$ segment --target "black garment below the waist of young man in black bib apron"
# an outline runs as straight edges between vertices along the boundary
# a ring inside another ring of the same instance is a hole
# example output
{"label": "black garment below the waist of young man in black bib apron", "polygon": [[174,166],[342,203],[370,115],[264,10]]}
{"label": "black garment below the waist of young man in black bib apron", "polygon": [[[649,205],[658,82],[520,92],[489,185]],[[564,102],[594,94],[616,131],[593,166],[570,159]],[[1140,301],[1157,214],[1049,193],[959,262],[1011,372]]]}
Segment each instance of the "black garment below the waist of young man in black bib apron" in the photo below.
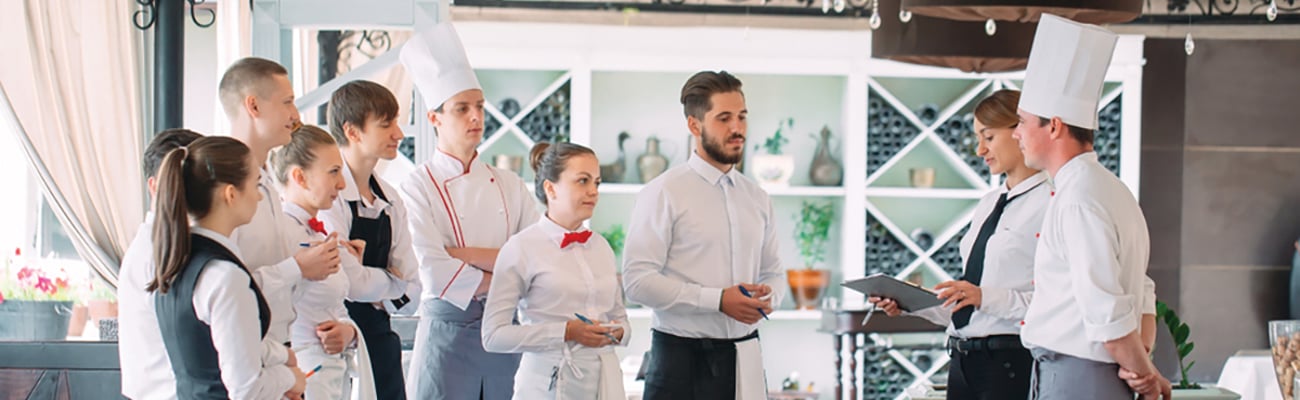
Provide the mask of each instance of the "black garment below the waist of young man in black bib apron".
{"label": "black garment below the waist of young man in black bib apron", "polygon": [[402,338],[393,331],[389,312],[376,309],[369,303],[344,301],[347,314],[361,329],[365,349],[370,352],[370,371],[374,374],[374,397],[380,400],[406,400],[406,382],[402,378]]}

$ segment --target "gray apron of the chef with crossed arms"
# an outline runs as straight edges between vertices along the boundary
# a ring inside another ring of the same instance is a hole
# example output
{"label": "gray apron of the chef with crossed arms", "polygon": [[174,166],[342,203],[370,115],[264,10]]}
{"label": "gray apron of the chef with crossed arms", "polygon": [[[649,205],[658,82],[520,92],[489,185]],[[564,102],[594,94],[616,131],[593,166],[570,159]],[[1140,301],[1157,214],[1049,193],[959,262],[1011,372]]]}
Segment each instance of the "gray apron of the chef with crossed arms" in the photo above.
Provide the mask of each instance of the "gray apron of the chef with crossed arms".
{"label": "gray apron of the chef with crossed arms", "polygon": [[426,299],[420,313],[407,379],[411,399],[511,399],[520,355],[484,351],[482,300],[460,310],[451,303]]}

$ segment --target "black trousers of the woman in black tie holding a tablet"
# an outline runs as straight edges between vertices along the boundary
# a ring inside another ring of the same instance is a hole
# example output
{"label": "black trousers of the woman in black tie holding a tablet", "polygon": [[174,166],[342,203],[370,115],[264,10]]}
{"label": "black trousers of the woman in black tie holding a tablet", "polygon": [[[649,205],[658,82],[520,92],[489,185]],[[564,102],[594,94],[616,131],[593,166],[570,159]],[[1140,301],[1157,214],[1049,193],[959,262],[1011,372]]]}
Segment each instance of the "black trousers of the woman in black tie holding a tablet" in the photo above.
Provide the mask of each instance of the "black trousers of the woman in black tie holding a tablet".
{"label": "black trousers of the woman in black tie holding a tablet", "polygon": [[1034,357],[1028,349],[959,352],[949,349],[949,400],[1008,400],[1030,397]]}

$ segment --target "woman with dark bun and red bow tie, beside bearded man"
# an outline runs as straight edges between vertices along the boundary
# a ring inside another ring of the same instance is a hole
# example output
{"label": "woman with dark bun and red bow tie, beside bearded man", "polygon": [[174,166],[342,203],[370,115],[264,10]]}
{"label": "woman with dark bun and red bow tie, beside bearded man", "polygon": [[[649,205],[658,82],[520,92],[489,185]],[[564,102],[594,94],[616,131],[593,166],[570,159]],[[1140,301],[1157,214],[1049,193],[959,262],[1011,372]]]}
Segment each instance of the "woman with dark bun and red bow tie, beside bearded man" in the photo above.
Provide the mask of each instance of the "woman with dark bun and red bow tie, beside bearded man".
{"label": "woman with dark bun and red bow tie, beside bearded man", "polygon": [[541,143],[532,165],[546,216],[500,248],[484,348],[524,353],[515,399],[625,399],[611,348],[628,331],[614,249],[582,227],[599,199],[601,162],[578,144]]}

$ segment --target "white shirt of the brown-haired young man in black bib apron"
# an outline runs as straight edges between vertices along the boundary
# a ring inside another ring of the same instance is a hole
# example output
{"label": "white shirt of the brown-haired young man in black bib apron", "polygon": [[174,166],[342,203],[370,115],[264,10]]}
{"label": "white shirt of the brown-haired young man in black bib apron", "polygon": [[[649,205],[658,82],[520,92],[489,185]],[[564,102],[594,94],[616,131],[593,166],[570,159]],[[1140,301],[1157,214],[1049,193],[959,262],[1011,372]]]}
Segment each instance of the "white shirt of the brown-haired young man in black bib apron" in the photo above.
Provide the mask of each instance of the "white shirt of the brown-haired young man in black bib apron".
{"label": "white shirt of the brown-haired young man in black bib apron", "polygon": [[[320,210],[317,218],[325,223],[326,231],[338,232],[339,239],[347,240],[350,238],[348,234],[352,231],[352,208],[348,206],[348,201],[360,201],[356,205],[356,212],[365,218],[377,218],[384,213],[389,214],[389,223],[393,230],[393,242],[389,243],[389,270],[396,270],[402,274],[402,278],[396,279],[376,268],[364,268],[360,271],[355,269],[344,270],[352,281],[347,299],[352,301],[382,301],[408,295],[411,304],[404,305],[400,310],[393,306],[393,301],[384,301],[384,308],[390,313],[413,310],[420,304],[419,264],[415,262],[415,253],[411,252],[411,231],[407,229],[407,210],[402,204],[398,190],[384,182],[382,178],[374,177],[387,200],[380,199],[376,194],[374,201],[369,201],[361,199],[356,178],[352,177],[352,170],[348,168],[346,157],[343,158],[343,170],[341,173],[347,186],[338,192],[334,205]],[[369,182],[365,184],[369,184]],[[351,257],[351,255],[347,255],[347,257]]]}

